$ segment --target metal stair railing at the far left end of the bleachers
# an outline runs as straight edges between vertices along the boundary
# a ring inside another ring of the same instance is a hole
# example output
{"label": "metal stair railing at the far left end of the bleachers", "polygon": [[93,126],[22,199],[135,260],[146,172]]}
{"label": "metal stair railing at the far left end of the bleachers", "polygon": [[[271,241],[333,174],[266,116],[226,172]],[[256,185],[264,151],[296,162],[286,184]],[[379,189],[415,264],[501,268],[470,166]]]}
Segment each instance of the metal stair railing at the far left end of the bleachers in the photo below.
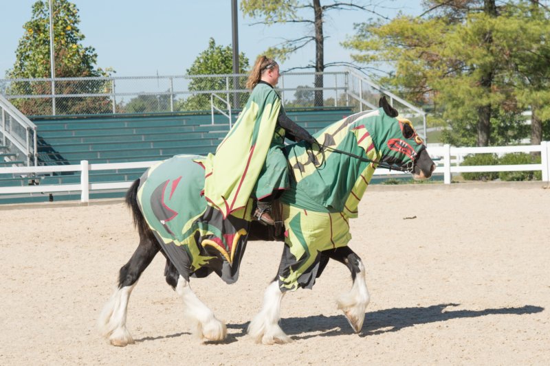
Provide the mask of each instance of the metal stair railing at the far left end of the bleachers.
{"label": "metal stair railing at the far left end of the bleachers", "polygon": [[27,166],[36,165],[38,151],[36,125],[2,95],[0,95],[0,111],[1,144],[8,146],[9,152],[25,157]]}

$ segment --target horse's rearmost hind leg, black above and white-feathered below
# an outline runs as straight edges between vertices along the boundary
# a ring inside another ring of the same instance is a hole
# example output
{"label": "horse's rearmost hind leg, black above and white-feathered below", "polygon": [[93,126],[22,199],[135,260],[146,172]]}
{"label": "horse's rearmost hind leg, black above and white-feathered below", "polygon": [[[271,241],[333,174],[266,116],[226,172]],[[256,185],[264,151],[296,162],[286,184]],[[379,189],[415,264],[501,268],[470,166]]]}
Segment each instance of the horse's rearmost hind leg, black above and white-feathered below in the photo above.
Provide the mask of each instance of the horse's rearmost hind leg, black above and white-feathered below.
{"label": "horse's rearmost hind leg, black above and white-feathered below", "polygon": [[133,343],[132,336],[126,329],[128,301],[137,280],[158,251],[159,245],[152,233],[141,236],[140,244],[132,258],[120,268],[118,286],[98,319],[100,334],[109,337],[112,345],[124,346]]}

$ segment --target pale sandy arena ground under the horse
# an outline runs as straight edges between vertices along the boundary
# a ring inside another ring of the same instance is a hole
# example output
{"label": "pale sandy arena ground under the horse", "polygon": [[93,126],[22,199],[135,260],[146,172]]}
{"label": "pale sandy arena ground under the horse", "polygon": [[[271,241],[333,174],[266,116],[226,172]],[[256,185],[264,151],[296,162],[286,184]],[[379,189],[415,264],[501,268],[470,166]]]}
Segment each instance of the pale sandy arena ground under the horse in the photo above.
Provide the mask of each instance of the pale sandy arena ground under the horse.
{"label": "pale sandy arena ground under the horse", "polygon": [[550,189],[542,183],[372,186],[351,221],[371,304],[360,334],[336,309],[347,268],[283,299],[289,345],[245,333],[283,244],[250,242],[239,282],[195,279],[228,323],[202,344],[157,255],[130,299],[134,345],[96,319],[137,246],[121,201],[0,206],[0,365],[549,365]]}

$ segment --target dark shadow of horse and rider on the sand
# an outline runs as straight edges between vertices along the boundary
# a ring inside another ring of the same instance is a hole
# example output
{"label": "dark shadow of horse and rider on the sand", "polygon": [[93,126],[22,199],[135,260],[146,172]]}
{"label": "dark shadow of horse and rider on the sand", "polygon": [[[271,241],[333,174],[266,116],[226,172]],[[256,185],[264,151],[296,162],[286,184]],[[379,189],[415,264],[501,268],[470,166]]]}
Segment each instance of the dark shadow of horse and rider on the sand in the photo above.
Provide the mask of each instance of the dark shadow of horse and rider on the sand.
{"label": "dark shadow of horse and rider on the sand", "polygon": [[[439,321],[448,321],[452,319],[485,317],[487,315],[525,315],[536,314],[544,311],[541,306],[525,305],[520,308],[494,308],[485,310],[451,310],[450,308],[460,306],[460,304],[439,304],[426,307],[415,308],[391,308],[367,312],[365,321],[359,336],[373,336],[388,332],[398,332],[401,329],[420,324],[437,323]],[[228,332],[225,341],[221,343],[233,343],[245,336],[246,329],[250,322],[241,324],[227,324],[228,330],[237,330],[237,332]],[[338,336],[342,334],[353,334],[353,330],[347,323],[344,315],[312,315],[310,317],[293,317],[281,319],[281,327],[292,336],[292,339],[309,339],[317,336]],[[166,339],[179,337],[188,332],[177,334],[168,334],[166,336],[148,336],[143,339],[136,339],[136,343],[144,341],[155,341],[157,339]],[[211,342],[206,342],[211,343]]]}

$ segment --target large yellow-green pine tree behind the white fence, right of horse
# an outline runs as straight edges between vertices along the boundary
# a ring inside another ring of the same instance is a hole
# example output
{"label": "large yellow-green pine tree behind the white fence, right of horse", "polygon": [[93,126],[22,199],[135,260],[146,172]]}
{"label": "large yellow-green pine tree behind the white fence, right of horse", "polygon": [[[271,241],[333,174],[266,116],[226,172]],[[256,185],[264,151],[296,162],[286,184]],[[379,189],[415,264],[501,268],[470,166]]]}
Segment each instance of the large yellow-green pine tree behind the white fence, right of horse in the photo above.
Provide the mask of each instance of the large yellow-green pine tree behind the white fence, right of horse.
{"label": "large yellow-green pine tree behind the white fence, right of horse", "polygon": [[[423,16],[359,25],[344,45],[359,52],[352,55],[358,62],[395,66],[395,72],[379,78],[382,84],[417,102],[431,98],[439,122],[452,128],[443,134],[446,141],[477,146],[516,142],[525,128],[522,105],[533,95],[525,93],[526,83],[518,82],[518,70],[523,65],[524,73],[547,73],[540,60],[536,66],[535,58],[521,59],[516,51],[521,46],[525,55],[549,47],[544,37],[529,36],[541,21],[522,14],[525,3],[430,0]],[[541,36],[548,32],[543,29]],[[520,95],[525,95],[522,100]]]}

